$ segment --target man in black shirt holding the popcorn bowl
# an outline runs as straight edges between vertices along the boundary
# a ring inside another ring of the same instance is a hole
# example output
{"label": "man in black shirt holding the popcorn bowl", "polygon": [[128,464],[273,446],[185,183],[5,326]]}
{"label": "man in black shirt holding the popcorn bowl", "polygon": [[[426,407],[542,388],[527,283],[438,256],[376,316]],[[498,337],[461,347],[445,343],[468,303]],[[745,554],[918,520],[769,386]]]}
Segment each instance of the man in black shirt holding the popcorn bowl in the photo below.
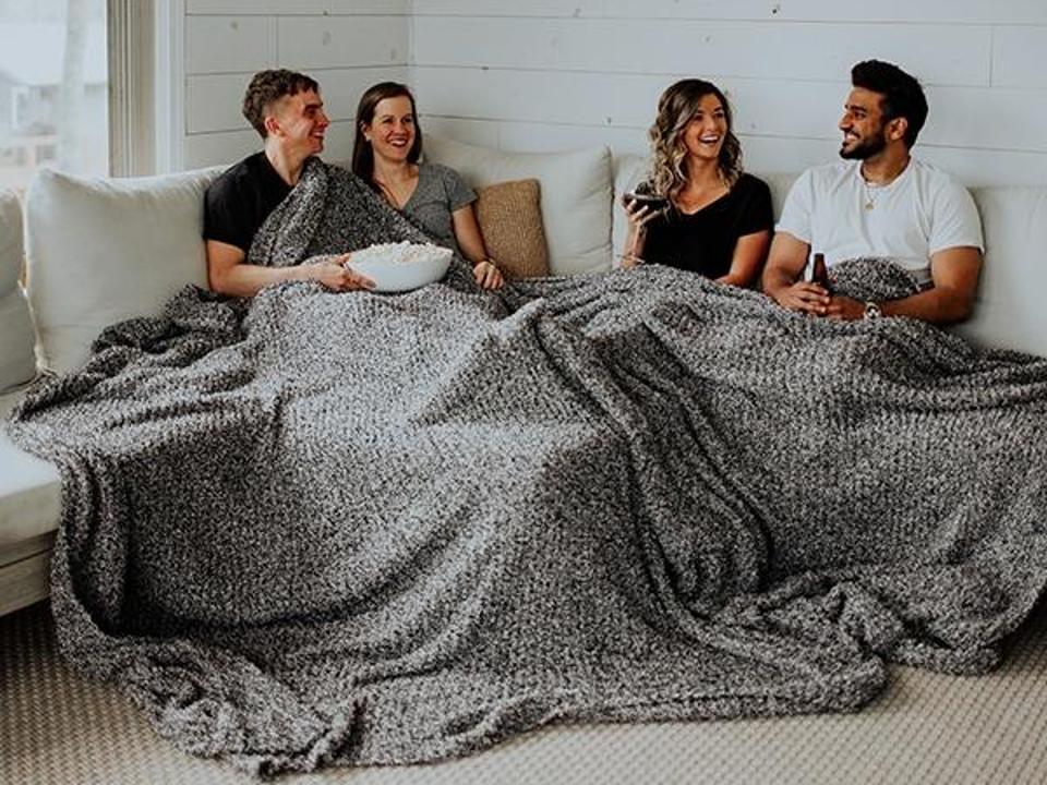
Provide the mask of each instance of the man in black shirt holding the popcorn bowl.
{"label": "man in black shirt holding the popcorn bowl", "polygon": [[262,136],[264,148],[222,172],[204,195],[210,288],[252,297],[286,280],[318,280],[335,291],[373,287],[369,278],[345,267],[349,254],[316,265],[246,264],[255,232],[298,184],[305,160],[324,149],[330,121],[316,82],[284,69],[254,75],[243,98],[243,114]]}

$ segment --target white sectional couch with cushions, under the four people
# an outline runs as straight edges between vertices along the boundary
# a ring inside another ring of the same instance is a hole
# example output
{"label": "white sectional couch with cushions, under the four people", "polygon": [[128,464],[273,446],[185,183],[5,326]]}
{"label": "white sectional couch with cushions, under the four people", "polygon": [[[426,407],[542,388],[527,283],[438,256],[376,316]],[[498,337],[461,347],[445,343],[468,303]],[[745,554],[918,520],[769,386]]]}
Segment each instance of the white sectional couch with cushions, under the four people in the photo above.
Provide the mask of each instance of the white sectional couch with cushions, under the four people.
{"label": "white sectional couch with cushions, under the four people", "polygon": [[[606,148],[515,154],[431,138],[426,154],[474,186],[537,178],[555,275],[611,267],[625,231],[618,197],[643,170],[640,158],[615,158]],[[0,195],[0,414],[37,373],[83,362],[104,326],[156,312],[184,283],[205,283],[202,196],[218,171],[123,181],[41,172],[24,220],[32,321],[17,279],[21,210],[13,195]],[[765,176],[775,208],[793,177]],[[1047,185],[973,193],[986,265],[976,314],[956,329],[987,346],[1047,355],[1047,310],[1039,304],[1047,291]],[[0,614],[47,595],[60,496],[55,468],[0,431]]]}

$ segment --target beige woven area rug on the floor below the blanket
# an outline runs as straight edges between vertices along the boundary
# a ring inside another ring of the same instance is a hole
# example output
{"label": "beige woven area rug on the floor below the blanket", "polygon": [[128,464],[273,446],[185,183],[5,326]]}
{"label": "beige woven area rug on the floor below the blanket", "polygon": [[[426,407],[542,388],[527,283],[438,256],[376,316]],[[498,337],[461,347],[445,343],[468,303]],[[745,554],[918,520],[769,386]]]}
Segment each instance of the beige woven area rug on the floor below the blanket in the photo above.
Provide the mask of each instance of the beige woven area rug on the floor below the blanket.
{"label": "beige woven area rug on the floor below the blanket", "polygon": [[[857,714],[557,726],[438,765],[332,770],[285,782],[1047,782],[1047,608],[988,676],[892,673],[888,690]],[[0,783],[248,782],[179,752],[115,688],[59,661],[46,603],[0,618]]]}

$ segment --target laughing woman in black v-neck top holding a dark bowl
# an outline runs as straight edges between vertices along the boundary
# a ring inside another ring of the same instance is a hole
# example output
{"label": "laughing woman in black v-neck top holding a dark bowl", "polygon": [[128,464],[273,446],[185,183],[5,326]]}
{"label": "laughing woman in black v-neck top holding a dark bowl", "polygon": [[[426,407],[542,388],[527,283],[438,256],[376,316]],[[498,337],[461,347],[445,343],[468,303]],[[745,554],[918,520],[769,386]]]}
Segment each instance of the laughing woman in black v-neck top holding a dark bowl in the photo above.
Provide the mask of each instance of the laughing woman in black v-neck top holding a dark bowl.
{"label": "laughing woman in black v-neck top holding a dark bowl", "polygon": [[742,171],[726,97],[710,82],[677,82],[659,99],[649,135],[653,164],[637,193],[666,202],[626,195],[622,266],[658,263],[751,286],[771,242],[771,192]]}

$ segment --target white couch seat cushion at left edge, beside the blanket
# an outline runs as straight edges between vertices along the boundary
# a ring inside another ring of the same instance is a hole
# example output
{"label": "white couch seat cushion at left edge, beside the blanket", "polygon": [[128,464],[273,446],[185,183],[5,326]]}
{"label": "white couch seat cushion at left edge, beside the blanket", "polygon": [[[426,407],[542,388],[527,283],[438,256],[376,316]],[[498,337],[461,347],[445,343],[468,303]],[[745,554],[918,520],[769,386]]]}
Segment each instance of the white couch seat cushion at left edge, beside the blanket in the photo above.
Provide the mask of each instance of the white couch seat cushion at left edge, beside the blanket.
{"label": "white couch seat cushion at left edge, beside the blanket", "polygon": [[8,437],[3,423],[21,397],[0,396],[0,547],[55,530],[62,509],[58,468]]}

